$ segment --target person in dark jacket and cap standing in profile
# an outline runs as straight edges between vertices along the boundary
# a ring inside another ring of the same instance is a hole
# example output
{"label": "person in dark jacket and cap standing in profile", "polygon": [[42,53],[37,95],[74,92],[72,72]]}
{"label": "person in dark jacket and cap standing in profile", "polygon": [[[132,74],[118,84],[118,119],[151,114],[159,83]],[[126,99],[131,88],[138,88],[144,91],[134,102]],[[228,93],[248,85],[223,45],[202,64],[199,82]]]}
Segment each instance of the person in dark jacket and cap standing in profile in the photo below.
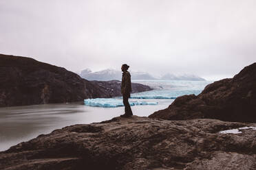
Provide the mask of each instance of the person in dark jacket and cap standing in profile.
{"label": "person in dark jacket and cap standing in profile", "polygon": [[120,117],[131,117],[133,114],[131,112],[131,106],[129,104],[129,97],[131,97],[131,75],[129,71],[129,66],[127,64],[122,64],[122,84],[121,84],[121,93],[122,93],[122,102],[125,105],[125,114],[120,115]]}

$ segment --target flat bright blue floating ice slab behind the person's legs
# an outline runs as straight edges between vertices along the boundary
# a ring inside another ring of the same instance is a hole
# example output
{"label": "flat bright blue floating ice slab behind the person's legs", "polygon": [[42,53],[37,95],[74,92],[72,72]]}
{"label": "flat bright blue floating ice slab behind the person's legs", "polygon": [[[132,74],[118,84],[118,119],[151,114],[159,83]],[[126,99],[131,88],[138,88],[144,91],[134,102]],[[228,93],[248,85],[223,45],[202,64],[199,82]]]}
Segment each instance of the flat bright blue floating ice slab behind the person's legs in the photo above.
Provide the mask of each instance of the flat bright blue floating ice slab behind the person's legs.
{"label": "flat bright blue floating ice slab behind the person's legs", "polygon": [[[102,108],[116,108],[124,106],[122,99],[116,98],[96,98],[96,99],[84,99],[85,106],[102,107]],[[129,101],[131,106],[136,105],[157,105],[156,101]]]}

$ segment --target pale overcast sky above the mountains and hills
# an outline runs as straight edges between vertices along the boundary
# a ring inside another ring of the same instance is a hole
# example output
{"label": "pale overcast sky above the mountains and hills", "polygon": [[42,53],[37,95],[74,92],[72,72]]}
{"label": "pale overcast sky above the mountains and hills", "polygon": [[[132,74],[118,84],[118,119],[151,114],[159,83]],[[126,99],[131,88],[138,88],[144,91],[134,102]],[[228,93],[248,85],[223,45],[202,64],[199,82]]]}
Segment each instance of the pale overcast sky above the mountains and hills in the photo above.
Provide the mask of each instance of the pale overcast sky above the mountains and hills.
{"label": "pale overcast sky above the mountains and hills", "polygon": [[0,0],[0,53],[70,71],[233,77],[256,62],[255,0]]}

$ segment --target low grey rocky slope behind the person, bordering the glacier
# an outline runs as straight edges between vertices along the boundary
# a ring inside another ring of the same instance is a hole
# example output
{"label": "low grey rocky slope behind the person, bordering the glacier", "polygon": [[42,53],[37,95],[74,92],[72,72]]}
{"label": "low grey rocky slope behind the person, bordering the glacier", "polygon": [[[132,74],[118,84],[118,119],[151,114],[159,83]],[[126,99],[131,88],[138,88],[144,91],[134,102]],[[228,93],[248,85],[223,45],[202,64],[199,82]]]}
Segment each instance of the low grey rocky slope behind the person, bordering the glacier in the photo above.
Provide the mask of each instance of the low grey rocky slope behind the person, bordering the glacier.
{"label": "low grey rocky slope behind the person, bordering the glacier", "polygon": [[[103,88],[105,93],[109,94],[109,97],[118,97],[122,96],[121,94],[121,82],[118,80],[110,80],[110,81],[90,81],[92,84],[96,84]],[[138,83],[131,83],[131,93],[140,93],[143,91],[153,90],[149,86],[138,84]]]}

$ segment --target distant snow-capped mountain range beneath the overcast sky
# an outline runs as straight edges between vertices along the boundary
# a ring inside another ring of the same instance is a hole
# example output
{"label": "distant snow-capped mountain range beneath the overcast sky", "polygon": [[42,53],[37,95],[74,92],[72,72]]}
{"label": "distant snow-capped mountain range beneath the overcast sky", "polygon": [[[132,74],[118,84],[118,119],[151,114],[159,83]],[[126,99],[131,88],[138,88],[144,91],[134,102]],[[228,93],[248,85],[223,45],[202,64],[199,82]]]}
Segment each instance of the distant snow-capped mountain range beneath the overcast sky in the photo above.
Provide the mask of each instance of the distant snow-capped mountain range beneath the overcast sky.
{"label": "distant snow-capped mountain range beneath the overcast sky", "polygon": [[[105,69],[102,71],[92,72],[90,69],[85,69],[78,73],[81,77],[87,80],[121,80],[122,71],[117,71],[115,69]],[[161,77],[154,77],[153,75],[145,72],[134,72],[131,71],[132,80],[191,80],[191,81],[204,81],[202,77],[192,74],[175,75],[172,73],[167,73]]]}

